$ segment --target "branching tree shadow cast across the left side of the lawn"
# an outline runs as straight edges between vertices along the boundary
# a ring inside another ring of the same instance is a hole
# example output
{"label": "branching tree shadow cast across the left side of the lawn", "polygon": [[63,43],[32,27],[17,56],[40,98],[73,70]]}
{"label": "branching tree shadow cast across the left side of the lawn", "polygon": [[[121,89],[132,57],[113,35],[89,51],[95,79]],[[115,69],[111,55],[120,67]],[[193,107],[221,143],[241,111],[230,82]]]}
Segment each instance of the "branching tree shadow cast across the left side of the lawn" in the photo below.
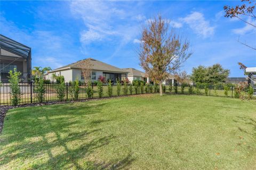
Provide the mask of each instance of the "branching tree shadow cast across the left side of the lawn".
{"label": "branching tree shadow cast across the left side of the lawn", "polygon": [[[36,156],[39,158],[43,154],[46,154],[49,158],[45,163],[35,162],[33,163],[33,167],[26,168],[42,168],[42,169],[60,169],[60,168],[68,168],[67,166],[76,167],[76,169],[82,169],[81,163],[78,163],[78,160],[83,159],[86,156],[89,156],[94,152],[95,149],[108,145],[112,140],[115,139],[113,134],[99,136],[97,133],[101,131],[101,129],[92,129],[92,130],[83,130],[80,132],[69,131],[70,126],[78,125],[81,123],[78,120],[70,121],[69,118],[73,118],[74,115],[87,115],[96,114],[100,112],[104,104],[97,106],[84,106],[80,107],[79,111],[82,109],[84,112],[77,113],[76,108],[72,108],[72,106],[63,106],[59,105],[54,108],[50,108],[53,112],[43,113],[40,109],[49,109],[47,107],[39,107],[36,118],[33,118],[31,122],[31,114],[24,114],[23,116],[19,116],[18,121],[14,121],[21,125],[21,130],[9,130],[4,138],[4,142],[0,145],[4,150],[2,151],[1,163],[0,166],[10,166],[8,165],[13,160],[20,160],[21,162],[26,162],[29,160],[33,160]],[[95,109],[96,108],[96,109]],[[26,112],[26,109],[23,112]],[[63,111],[62,113],[60,111]],[[74,111],[67,113],[66,111]],[[14,113],[19,114],[19,112]],[[42,116],[38,116],[42,114]],[[66,115],[64,117],[61,117]],[[54,118],[52,118],[54,116]],[[58,118],[58,116],[60,116]],[[42,118],[44,117],[44,118]],[[17,119],[17,118],[16,118]],[[96,120],[92,122],[88,122],[89,125],[99,125],[100,123],[107,122],[111,120]],[[66,137],[62,137],[62,133],[65,132],[67,134]],[[49,134],[52,135],[52,139],[49,138]],[[29,140],[31,138],[36,138],[36,140]],[[78,141],[77,141],[78,140]],[[81,142],[79,142],[81,141]],[[77,147],[71,147],[70,143],[75,142]],[[69,145],[68,145],[69,143]],[[53,154],[53,149],[58,150],[58,148],[62,148],[60,153]],[[43,157],[43,156],[42,156]],[[36,158],[35,158],[36,160]],[[42,161],[42,160],[41,160]],[[111,163],[115,161],[111,161],[109,164],[98,165],[98,163],[90,163],[95,168],[100,167],[108,167],[108,168],[122,168],[133,161],[131,156],[127,156],[127,158],[123,160],[119,160],[117,163],[113,165]],[[22,164],[22,163],[17,163]],[[15,166],[15,165],[14,165]],[[26,165],[25,165],[26,166]]]}

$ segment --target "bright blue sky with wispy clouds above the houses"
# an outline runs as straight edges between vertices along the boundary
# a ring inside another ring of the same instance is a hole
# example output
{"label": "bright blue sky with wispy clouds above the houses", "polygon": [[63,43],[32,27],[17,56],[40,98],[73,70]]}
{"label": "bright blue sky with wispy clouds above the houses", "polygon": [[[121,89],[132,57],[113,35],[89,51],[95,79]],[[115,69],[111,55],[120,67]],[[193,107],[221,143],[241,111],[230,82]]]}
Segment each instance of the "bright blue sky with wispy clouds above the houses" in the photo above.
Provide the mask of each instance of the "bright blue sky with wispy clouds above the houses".
{"label": "bright blue sky with wispy clouds above the houses", "polygon": [[[157,14],[187,37],[193,55],[181,70],[220,63],[231,77],[237,62],[256,66],[255,29],[225,18],[224,5],[238,1],[1,1],[0,32],[32,48],[33,66],[57,67],[92,57],[141,70],[137,49],[142,25]],[[255,22],[255,21],[252,21]]]}

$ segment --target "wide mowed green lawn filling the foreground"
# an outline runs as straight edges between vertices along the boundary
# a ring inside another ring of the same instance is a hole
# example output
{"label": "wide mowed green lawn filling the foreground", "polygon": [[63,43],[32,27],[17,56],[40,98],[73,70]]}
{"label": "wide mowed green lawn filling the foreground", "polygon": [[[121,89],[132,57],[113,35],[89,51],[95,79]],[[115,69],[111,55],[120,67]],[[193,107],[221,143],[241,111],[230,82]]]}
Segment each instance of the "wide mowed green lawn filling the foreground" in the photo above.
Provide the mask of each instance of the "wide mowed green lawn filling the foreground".
{"label": "wide mowed green lawn filling the foreground", "polygon": [[12,109],[0,169],[256,169],[256,102],[153,94]]}

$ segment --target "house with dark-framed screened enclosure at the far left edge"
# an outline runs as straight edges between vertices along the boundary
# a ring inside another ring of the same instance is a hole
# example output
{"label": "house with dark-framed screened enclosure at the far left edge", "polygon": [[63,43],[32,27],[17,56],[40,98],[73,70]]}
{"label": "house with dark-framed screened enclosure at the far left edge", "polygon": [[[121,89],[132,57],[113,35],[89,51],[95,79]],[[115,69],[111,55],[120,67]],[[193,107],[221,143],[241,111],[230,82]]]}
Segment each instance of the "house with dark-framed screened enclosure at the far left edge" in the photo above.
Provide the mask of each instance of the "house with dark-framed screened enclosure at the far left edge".
{"label": "house with dark-framed screened enclosure at the far left edge", "polygon": [[31,78],[31,48],[0,34],[0,81],[8,82],[9,71],[21,72],[21,80]]}

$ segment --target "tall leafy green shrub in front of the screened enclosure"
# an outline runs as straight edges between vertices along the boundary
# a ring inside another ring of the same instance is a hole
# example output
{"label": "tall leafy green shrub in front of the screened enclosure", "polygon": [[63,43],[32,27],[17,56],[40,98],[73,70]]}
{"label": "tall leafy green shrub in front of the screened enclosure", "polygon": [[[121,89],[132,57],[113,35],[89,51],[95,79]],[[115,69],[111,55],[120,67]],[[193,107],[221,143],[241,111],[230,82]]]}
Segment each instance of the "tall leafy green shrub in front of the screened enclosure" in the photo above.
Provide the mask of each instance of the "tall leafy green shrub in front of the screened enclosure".
{"label": "tall leafy green shrub in front of the screened enclosure", "polygon": [[17,72],[16,69],[14,69],[14,71],[10,70],[9,75],[10,76],[8,78],[11,88],[11,103],[13,106],[17,106],[21,98],[21,91],[19,87],[21,73]]}

